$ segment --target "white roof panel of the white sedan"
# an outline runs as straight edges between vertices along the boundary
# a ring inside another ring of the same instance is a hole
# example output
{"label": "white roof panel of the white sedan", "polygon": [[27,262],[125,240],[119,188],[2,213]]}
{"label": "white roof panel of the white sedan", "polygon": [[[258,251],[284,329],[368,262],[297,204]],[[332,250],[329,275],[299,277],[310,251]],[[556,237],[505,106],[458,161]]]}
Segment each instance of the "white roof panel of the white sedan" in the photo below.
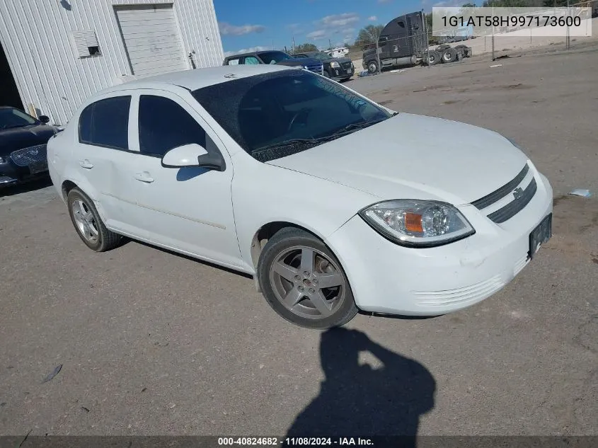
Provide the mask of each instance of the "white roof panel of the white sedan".
{"label": "white roof panel of the white sedan", "polygon": [[111,93],[136,88],[159,88],[164,85],[180,86],[190,91],[195,91],[198,88],[213,86],[214,84],[221,84],[234,79],[282,70],[296,70],[296,68],[275,64],[239,64],[209,67],[206,69],[173,71],[172,73],[133,79],[132,81],[106,88],[98,93]]}

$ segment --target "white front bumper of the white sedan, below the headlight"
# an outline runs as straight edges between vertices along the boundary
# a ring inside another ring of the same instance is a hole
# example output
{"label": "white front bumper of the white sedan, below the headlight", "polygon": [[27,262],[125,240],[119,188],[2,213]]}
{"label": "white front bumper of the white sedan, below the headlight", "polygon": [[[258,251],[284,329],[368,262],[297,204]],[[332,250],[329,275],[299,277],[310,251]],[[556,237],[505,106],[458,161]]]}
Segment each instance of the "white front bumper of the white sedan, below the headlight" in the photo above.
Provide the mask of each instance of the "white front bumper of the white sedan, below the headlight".
{"label": "white front bumper of the white sedan, below the headlight", "polygon": [[552,212],[552,188],[538,190],[511,219],[495,224],[473,207],[458,207],[476,234],[435,248],[406,248],[384,239],[356,215],[327,243],[345,268],[363,311],[438,316],[476,304],[505,287],[529,263],[529,234]]}

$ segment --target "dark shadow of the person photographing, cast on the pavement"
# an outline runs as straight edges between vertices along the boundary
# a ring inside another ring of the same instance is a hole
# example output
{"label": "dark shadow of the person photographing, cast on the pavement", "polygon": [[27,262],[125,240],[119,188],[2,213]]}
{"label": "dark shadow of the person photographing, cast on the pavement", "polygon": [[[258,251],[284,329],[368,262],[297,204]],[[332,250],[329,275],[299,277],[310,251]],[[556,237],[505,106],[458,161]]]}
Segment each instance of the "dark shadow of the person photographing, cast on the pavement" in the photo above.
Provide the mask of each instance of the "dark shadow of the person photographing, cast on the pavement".
{"label": "dark shadow of the person photographing, cast on the pavement", "polygon": [[[369,352],[379,362],[373,367],[360,364],[360,352]],[[345,328],[322,333],[320,357],[326,375],[320,394],[285,437],[376,436],[390,441],[384,436],[401,435],[410,436],[401,438],[401,447],[415,447],[420,415],[434,408],[436,389],[434,377],[422,364]]]}

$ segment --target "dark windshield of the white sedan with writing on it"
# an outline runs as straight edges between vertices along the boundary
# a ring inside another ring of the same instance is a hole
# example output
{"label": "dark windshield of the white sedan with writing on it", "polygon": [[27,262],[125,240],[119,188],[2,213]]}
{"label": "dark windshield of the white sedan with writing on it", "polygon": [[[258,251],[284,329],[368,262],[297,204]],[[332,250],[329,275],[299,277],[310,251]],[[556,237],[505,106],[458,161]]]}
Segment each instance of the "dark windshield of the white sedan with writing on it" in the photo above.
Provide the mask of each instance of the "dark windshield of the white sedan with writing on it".
{"label": "dark windshield of the white sedan with writing on it", "polygon": [[193,92],[222,128],[259,161],[305,151],[391,117],[323,76],[284,70]]}

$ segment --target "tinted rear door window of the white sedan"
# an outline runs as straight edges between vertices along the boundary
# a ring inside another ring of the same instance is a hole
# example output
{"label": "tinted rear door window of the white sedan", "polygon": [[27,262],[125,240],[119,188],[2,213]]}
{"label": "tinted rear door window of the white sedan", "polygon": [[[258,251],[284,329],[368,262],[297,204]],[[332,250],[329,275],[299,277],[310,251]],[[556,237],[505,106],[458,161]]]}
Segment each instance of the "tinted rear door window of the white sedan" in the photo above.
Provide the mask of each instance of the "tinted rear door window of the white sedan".
{"label": "tinted rear door window of the white sedan", "polygon": [[115,96],[88,105],[79,117],[79,142],[129,149],[130,96]]}

